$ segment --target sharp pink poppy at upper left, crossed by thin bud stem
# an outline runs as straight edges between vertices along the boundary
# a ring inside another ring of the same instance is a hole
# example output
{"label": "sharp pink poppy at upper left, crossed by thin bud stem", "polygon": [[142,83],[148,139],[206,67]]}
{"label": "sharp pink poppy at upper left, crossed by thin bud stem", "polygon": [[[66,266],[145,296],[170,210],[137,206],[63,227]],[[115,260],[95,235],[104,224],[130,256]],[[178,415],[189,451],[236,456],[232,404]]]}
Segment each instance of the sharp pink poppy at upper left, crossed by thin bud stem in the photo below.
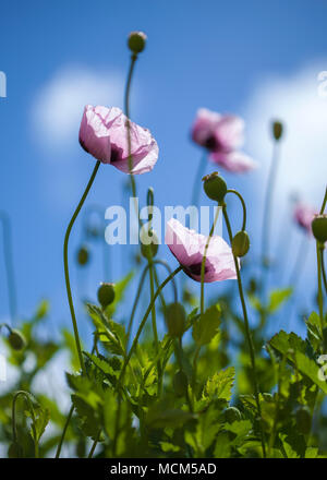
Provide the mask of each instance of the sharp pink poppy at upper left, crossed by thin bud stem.
{"label": "sharp pink poppy at upper left, crossed by thin bud stem", "polygon": [[[84,109],[80,143],[82,147],[100,160],[111,164],[125,173],[129,168],[128,118],[117,107],[93,107]],[[132,173],[145,173],[154,168],[158,159],[158,145],[147,129],[130,122]]]}

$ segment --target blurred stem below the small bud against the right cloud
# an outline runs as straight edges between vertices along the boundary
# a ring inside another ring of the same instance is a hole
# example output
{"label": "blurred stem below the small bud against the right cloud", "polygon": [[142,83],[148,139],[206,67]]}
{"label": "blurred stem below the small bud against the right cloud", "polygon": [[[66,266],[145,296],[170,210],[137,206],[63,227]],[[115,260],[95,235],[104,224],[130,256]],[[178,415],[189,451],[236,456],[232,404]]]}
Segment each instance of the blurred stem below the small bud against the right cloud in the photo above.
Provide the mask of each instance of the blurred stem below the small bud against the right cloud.
{"label": "blurred stem below the small bud against the right cloud", "polygon": [[269,264],[270,254],[270,221],[271,221],[271,204],[274,196],[274,188],[276,183],[277,170],[279,164],[279,145],[278,142],[274,143],[272,158],[270,164],[270,170],[268,176],[268,185],[266,190],[265,206],[264,206],[264,220],[263,220],[263,236],[262,236],[262,292],[263,298],[266,295],[266,266]]}

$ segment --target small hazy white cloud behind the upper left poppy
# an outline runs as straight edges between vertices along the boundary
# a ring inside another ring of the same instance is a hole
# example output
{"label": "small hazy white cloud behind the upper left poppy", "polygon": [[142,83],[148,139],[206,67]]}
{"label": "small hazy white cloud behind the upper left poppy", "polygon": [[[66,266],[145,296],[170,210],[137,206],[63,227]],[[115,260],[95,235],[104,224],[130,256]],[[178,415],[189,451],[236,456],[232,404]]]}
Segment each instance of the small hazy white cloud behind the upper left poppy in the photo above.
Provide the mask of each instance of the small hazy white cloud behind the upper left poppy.
{"label": "small hazy white cloud behind the upper left poppy", "polygon": [[76,144],[84,106],[120,106],[124,80],[117,72],[68,65],[46,83],[32,106],[33,132],[46,149]]}

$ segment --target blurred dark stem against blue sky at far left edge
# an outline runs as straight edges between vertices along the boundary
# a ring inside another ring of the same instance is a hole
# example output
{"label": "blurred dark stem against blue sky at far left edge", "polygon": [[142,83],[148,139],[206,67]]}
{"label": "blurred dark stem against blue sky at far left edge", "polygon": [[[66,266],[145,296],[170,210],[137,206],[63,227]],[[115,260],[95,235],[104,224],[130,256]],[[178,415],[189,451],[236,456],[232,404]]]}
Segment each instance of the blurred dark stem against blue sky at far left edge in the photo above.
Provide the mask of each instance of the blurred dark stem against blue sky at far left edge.
{"label": "blurred dark stem against blue sky at far left edge", "polygon": [[9,215],[3,211],[0,211],[0,220],[2,221],[2,229],[3,229],[3,257],[5,263],[5,273],[7,273],[7,283],[8,283],[10,317],[13,324],[16,316],[16,285],[14,279],[14,269],[13,269],[13,260],[12,260],[11,221]]}

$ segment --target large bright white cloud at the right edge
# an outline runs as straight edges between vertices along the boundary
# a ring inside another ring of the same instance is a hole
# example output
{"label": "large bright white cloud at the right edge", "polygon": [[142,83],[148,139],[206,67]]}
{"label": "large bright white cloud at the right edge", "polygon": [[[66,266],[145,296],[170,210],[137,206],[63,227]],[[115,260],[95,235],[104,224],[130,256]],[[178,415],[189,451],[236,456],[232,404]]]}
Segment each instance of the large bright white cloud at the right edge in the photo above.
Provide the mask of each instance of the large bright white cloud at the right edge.
{"label": "large bright white cloud at the right edge", "polygon": [[317,61],[292,75],[266,77],[245,107],[249,147],[262,161],[265,173],[271,157],[271,119],[284,123],[276,199],[295,191],[317,205],[323,200],[327,172],[327,98],[318,95],[322,85],[318,74],[326,68],[327,60]]}

